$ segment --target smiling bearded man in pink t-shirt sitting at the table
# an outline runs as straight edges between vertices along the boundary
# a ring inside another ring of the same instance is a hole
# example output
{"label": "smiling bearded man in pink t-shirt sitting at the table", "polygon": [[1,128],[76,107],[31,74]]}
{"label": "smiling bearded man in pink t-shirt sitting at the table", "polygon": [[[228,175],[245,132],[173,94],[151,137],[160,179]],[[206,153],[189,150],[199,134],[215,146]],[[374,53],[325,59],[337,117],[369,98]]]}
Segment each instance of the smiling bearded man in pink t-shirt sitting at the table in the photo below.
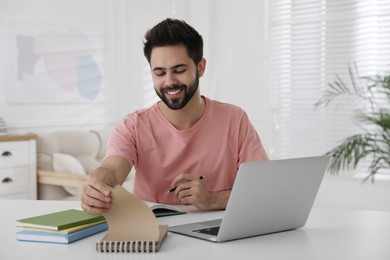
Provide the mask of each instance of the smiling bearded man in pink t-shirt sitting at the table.
{"label": "smiling bearded man in pink t-shirt sitting at the table", "polygon": [[191,26],[160,22],[146,33],[144,54],[161,102],[117,125],[84,187],[82,208],[106,212],[111,189],[134,166],[134,194],[142,200],[224,209],[239,165],[268,159],[256,130],[239,107],[200,95],[206,60]]}

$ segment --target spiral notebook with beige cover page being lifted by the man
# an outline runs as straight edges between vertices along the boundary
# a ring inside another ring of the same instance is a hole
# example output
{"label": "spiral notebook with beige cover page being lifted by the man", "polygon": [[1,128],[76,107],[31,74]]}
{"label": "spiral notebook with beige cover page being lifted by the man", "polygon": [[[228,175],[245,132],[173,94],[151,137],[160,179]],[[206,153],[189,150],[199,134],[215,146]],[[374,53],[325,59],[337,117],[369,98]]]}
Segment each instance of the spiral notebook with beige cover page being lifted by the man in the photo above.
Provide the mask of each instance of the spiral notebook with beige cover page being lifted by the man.
{"label": "spiral notebook with beige cover page being lifted by the man", "polygon": [[108,233],[96,243],[98,252],[157,252],[167,236],[168,226],[158,225],[153,211],[122,186],[112,190],[104,217]]}

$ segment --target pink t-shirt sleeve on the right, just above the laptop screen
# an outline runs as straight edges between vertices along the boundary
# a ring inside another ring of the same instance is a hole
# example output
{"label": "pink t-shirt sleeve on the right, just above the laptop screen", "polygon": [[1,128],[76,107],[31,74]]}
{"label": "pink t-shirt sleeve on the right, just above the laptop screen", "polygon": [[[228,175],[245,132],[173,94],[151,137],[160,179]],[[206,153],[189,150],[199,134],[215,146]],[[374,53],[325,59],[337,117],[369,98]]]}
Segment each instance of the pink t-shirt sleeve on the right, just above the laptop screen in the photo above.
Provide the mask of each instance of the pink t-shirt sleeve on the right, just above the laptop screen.
{"label": "pink t-shirt sleeve on the right, just above the laptop screen", "polygon": [[238,165],[263,160],[269,160],[269,157],[248,115],[243,112],[240,121]]}

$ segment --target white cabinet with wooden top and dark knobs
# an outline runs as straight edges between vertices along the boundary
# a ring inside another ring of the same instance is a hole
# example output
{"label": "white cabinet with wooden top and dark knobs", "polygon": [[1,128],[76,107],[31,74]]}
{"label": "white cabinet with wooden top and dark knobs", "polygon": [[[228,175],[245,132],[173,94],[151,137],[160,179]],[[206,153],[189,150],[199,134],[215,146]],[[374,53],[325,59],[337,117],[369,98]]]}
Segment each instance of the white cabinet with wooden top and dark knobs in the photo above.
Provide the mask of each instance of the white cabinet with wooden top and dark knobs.
{"label": "white cabinet with wooden top and dark knobs", "polygon": [[37,199],[34,135],[0,136],[0,199]]}

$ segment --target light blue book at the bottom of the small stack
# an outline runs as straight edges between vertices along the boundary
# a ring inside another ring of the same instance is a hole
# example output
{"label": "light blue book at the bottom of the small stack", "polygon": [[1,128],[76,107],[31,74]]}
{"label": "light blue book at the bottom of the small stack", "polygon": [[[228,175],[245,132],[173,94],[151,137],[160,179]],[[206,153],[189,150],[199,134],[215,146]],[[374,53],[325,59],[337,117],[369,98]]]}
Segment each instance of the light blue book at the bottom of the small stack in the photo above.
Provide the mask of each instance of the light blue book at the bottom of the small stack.
{"label": "light blue book at the bottom of the small stack", "polygon": [[16,239],[21,241],[70,244],[74,241],[94,235],[107,229],[108,224],[107,222],[104,222],[69,234],[23,230],[16,233]]}

